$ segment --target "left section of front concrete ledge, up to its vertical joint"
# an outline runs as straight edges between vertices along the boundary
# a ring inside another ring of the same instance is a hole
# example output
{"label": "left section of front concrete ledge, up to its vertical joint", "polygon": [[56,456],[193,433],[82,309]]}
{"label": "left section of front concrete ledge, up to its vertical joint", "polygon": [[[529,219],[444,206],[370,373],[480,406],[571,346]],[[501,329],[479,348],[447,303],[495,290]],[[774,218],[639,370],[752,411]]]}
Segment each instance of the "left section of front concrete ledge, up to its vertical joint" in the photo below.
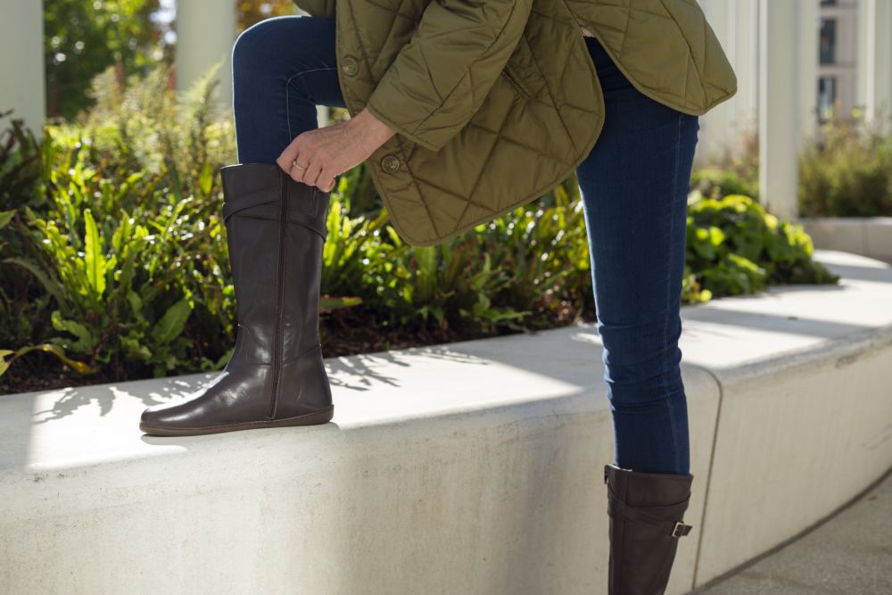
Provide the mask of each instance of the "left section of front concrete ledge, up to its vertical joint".
{"label": "left section of front concrete ledge, up to its vertical joint", "polygon": [[[0,398],[0,592],[599,592],[613,443],[591,327],[327,363],[334,423],[308,428],[138,431],[203,376]],[[708,443],[718,389],[685,373]]]}

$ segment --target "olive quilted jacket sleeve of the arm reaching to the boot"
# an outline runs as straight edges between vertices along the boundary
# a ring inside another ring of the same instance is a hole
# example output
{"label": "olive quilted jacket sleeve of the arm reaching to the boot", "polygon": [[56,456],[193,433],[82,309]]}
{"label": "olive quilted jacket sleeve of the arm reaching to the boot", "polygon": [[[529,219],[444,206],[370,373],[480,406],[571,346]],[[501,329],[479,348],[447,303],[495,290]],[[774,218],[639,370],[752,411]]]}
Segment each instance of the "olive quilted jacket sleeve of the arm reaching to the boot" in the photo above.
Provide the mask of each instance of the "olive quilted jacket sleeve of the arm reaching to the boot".
{"label": "olive quilted jacket sleeve of the arm reaching to the boot", "polygon": [[432,0],[366,108],[438,150],[483,103],[523,35],[533,0]]}

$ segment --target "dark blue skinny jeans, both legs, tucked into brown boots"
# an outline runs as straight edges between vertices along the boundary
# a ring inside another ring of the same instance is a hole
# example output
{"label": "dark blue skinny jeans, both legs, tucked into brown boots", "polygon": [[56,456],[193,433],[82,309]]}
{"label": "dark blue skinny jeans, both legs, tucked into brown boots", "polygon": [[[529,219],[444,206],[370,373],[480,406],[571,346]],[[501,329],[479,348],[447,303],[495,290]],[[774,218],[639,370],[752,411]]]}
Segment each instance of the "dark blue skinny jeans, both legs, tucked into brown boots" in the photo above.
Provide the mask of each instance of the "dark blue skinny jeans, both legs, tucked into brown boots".
{"label": "dark blue skinny jeans, both legs, tucked into brown boots", "polygon": [[[606,120],[576,173],[613,419],[613,462],[688,474],[679,337],[698,117],[641,94],[595,37],[585,37],[585,44]],[[336,66],[333,19],[273,17],[245,29],[232,52],[238,161],[275,162],[295,136],[318,128],[317,105],[344,107]]]}

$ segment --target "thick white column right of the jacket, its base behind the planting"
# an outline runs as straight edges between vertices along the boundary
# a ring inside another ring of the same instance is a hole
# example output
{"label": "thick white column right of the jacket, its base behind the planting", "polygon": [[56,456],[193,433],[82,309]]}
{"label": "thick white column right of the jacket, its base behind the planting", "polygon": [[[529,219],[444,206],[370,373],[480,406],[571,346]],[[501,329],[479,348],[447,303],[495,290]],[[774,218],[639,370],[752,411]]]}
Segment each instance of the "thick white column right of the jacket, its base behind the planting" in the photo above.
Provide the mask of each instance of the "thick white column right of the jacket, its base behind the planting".
{"label": "thick white column right of the jacket, its base behind the planting", "polygon": [[765,208],[796,218],[797,3],[759,2],[759,191]]}

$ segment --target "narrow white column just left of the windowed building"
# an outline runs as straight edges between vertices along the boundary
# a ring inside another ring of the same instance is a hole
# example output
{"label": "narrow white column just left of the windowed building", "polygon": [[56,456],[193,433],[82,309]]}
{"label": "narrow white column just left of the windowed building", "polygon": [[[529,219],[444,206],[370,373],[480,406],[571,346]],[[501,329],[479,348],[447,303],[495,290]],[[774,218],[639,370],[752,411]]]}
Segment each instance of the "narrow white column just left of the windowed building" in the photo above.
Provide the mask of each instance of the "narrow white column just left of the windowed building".
{"label": "narrow white column just left of the windowed building", "polygon": [[818,123],[819,0],[797,0],[797,71],[799,73],[799,147],[813,136]]}

